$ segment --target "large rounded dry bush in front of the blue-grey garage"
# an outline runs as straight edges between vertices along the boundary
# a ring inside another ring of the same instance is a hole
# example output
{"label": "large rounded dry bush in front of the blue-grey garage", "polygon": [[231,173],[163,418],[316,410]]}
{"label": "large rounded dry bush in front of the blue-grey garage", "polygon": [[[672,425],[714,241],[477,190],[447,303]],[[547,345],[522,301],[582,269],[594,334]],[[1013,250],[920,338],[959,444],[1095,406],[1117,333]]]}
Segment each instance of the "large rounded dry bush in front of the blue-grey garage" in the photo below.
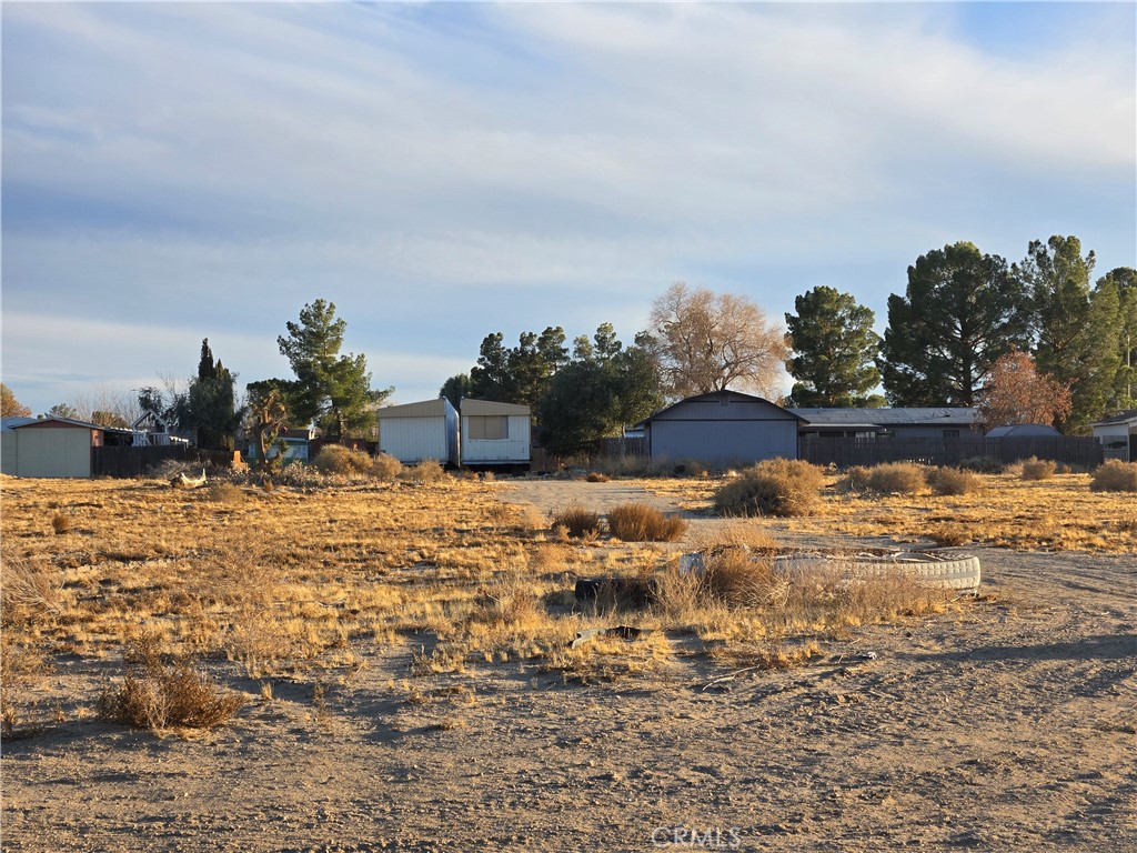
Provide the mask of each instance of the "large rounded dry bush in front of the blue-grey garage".
{"label": "large rounded dry bush in front of the blue-grey garage", "polygon": [[720,488],[714,508],[720,515],[808,515],[822,478],[820,467],[802,459],[765,459]]}

